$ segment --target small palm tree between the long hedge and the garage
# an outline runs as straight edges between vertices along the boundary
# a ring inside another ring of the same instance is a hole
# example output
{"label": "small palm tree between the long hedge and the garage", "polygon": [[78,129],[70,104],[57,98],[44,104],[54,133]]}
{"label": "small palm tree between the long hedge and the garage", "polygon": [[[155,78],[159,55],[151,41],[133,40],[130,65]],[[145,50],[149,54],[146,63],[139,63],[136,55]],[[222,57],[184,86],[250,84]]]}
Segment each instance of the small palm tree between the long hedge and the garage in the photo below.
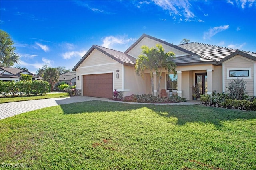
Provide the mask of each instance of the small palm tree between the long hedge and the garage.
{"label": "small palm tree between the long hedge and the garage", "polygon": [[51,92],[56,82],[58,82],[59,72],[56,68],[48,67],[44,70],[44,80],[51,85]]}

